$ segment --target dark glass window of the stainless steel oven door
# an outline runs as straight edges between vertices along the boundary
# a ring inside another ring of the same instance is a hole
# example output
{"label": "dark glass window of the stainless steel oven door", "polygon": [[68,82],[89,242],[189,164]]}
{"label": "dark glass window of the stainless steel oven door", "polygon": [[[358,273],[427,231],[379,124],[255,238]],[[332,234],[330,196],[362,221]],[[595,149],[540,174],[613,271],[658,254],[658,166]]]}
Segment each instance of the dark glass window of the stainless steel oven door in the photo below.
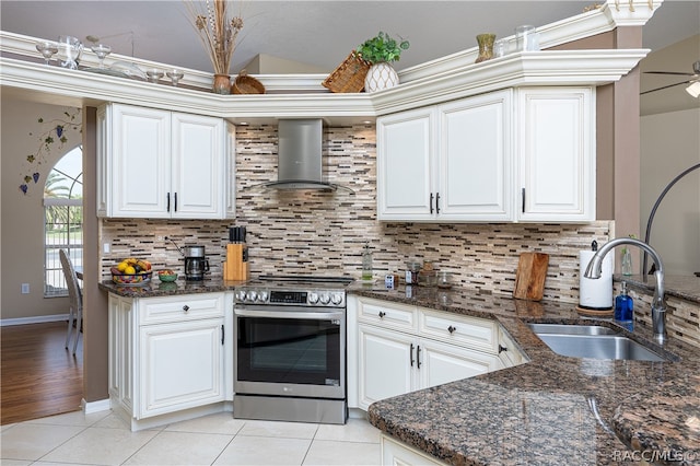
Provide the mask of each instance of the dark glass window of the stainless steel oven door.
{"label": "dark glass window of the stainless steel oven door", "polygon": [[304,318],[237,317],[237,378],[340,385],[340,325]]}

